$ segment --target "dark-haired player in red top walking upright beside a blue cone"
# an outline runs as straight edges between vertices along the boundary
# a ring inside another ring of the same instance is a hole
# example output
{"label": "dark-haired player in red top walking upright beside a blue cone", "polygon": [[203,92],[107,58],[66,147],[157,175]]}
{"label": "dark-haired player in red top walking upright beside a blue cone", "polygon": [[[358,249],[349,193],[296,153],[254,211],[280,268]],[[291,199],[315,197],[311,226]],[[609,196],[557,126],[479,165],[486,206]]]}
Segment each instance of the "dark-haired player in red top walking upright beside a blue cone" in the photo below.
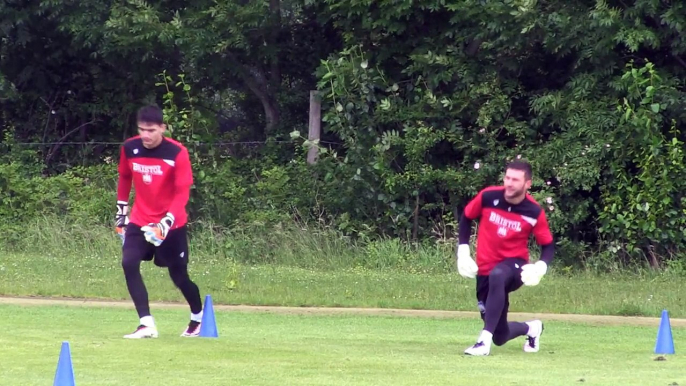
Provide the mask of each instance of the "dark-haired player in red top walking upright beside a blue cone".
{"label": "dark-haired player in red top walking upright beside a blue cone", "polygon": [[[122,268],[140,318],[136,331],[124,338],[158,336],[140,272],[141,262],[153,258],[155,265],[169,270],[190,306],[191,321],[181,336],[198,336],[202,300],[198,286],[188,276],[186,233],[186,203],[193,184],[190,157],[182,144],[164,136],[166,126],[158,107],[141,108],[137,121],[139,135],[121,147],[117,186],[116,230],[124,242]],[[132,185],[136,196],[127,216]]]}

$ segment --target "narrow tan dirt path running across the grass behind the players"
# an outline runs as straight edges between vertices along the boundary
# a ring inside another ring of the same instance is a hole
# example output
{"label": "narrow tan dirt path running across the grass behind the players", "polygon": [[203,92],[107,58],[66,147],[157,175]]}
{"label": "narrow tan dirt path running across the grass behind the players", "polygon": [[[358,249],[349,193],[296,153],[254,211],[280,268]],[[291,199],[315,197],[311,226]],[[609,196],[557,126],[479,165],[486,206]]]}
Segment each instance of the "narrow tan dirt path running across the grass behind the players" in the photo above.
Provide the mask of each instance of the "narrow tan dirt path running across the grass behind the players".
{"label": "narrow tan dirt path running across the grass behind the players", "polygon": [[[133,308],[130,301],[103,300],[103,299],[74,299],[74,298],[46,298],[46,297],[0,297],[0,304],[12,304],[21,306],[86,306],[86,307],[122,307]],[[151,308],[182,308],[187,309],[185,303],[153,302]],[[298,314],[298,315],[365,315],[365,316],[402,316],[423,318],[478,318],[477,312],[471,311],[440,311],[440,310],[409,310],[393,308],[348,308],[348,307],[283,307],[283,306],[250,306],[250,305],[223,305],[215,304],[216,311],[235,312],[263,312],[272,314]],[[657,327],[660,318],[638,316],[612,316],[612,315],[583,315],[583,314],[548,314],[548,313],[523,313],[511,312],[509,319],[512,321],[526,321],[542,319],[545,321],[562,321],[573,323],[590,323],[604,325],[629,325]],[[673,327],[686,327],[686,319],[670,318]]]}

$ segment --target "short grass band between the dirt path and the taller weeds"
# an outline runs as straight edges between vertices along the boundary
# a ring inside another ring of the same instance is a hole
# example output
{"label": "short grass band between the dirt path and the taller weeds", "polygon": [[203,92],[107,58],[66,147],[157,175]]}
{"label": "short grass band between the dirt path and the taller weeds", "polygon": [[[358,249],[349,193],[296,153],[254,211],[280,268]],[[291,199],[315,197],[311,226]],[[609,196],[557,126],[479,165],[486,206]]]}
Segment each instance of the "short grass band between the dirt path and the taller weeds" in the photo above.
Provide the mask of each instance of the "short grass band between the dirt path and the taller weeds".
{"label": "short grass band between the dirt path and the taller weeds", "polygon": [[[196,256],[190,271],[203,293],[220,304],[476,310],[474,281],[455,272],[317,270],[246,265],[213,256]],[[183,301],[166,271],[146,263],[143,275],[151,300]],[[129,298],[115,253],[5,254],[0,260],[0,294]],[[674,317],[686,317],[685,296],[684,280],[674,276],[551,272],[540,285],[514,293],[511,309],[655,317],[666,308]]]}

